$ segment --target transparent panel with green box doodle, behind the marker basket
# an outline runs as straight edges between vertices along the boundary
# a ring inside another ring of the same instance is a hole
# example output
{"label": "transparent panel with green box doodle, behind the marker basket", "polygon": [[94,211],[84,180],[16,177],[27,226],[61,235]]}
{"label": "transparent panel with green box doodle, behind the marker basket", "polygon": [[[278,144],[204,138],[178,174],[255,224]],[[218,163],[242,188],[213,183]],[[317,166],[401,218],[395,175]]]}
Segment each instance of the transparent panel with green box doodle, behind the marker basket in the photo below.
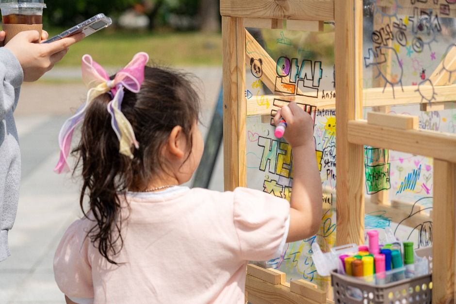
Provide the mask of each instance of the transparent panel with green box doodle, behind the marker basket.
{"label": "transparent panel with green box doodle, behind the marker basket", "polygon": [[432,245],[433,159],[364,147],[366,230],[390,228],[414,248]]}

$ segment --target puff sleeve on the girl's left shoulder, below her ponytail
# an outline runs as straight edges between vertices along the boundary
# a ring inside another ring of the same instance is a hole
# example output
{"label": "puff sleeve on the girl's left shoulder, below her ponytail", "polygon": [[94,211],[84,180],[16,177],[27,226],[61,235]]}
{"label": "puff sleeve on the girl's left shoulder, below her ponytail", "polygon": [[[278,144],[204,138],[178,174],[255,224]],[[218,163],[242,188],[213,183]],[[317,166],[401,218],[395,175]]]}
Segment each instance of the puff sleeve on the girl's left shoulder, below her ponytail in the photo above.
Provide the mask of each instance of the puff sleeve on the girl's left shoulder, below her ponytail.
{"label": "puff sleeve on the girl's left shoulder, below her ponytail", "polygon": [[77,220],[66,230],[54,255],[54,277],[70,299],[94,298],[92,267],[88,257],[90,239],[85,222]]}

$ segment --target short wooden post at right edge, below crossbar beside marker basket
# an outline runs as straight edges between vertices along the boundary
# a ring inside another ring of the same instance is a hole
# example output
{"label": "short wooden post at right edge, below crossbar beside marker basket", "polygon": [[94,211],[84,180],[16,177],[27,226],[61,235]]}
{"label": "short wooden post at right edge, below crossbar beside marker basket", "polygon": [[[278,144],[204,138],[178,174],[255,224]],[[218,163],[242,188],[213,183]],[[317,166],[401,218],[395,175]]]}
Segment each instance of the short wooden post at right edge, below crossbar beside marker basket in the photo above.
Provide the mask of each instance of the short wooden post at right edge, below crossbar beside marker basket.
{"label": "short wooden post at right edge, below crossbar beside marker basket", "polygon": [[434,159],[432,303],[456,301],[456,164]]}

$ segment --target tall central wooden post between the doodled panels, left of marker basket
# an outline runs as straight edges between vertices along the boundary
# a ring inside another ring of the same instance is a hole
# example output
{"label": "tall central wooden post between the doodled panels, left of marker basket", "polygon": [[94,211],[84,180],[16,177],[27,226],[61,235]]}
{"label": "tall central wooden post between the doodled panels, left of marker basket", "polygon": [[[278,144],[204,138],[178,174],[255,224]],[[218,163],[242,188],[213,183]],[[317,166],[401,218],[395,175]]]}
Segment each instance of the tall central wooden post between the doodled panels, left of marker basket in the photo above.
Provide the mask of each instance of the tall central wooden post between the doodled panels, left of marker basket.
{"label": "tall central wooden post between the doodled panels, left of marker basket", "polygon": [[334,1],[336,21],[337,245],[364,242],[364,148],[347,139],[362,118],[362,0]]}

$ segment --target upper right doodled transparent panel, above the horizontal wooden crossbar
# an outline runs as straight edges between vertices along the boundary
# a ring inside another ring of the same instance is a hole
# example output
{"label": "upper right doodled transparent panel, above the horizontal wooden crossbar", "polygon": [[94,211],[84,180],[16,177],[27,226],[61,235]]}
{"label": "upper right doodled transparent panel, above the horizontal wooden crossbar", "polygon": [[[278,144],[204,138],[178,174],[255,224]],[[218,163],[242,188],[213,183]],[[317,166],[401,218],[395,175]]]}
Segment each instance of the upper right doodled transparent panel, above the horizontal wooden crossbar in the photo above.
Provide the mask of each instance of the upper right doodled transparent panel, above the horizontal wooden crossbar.
{"label": "upper right doodled transparent panel, above the horizontal wooden crossbar", "polygon": [[455,108],[454,17],[454,1],[365,0],[363,106],[386,113],[400,104]]}

